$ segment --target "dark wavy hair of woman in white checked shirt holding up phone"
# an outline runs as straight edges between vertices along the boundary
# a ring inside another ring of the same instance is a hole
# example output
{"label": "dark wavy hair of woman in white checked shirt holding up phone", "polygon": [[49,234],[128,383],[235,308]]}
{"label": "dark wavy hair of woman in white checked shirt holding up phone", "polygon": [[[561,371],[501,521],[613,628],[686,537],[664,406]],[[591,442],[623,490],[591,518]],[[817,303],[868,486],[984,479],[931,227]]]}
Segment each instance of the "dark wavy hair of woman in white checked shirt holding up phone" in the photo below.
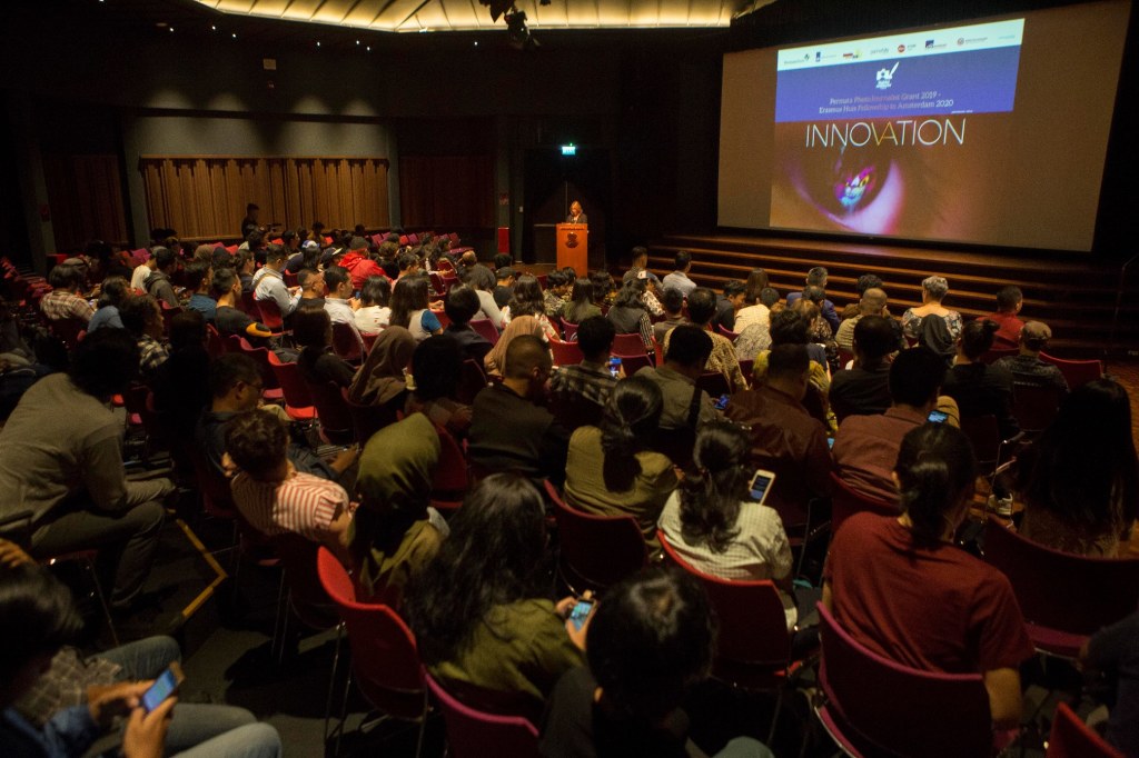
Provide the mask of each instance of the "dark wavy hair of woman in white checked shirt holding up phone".
{"label": "dark wavy hair of woman in white checked shirt holding up phone", "polygon": [[730,421],[700,427],[693,450],[695,472],[680,483],[680,534],[689,545],[722,553],[739,535],[739,503],[747,497],[751,444]]}

